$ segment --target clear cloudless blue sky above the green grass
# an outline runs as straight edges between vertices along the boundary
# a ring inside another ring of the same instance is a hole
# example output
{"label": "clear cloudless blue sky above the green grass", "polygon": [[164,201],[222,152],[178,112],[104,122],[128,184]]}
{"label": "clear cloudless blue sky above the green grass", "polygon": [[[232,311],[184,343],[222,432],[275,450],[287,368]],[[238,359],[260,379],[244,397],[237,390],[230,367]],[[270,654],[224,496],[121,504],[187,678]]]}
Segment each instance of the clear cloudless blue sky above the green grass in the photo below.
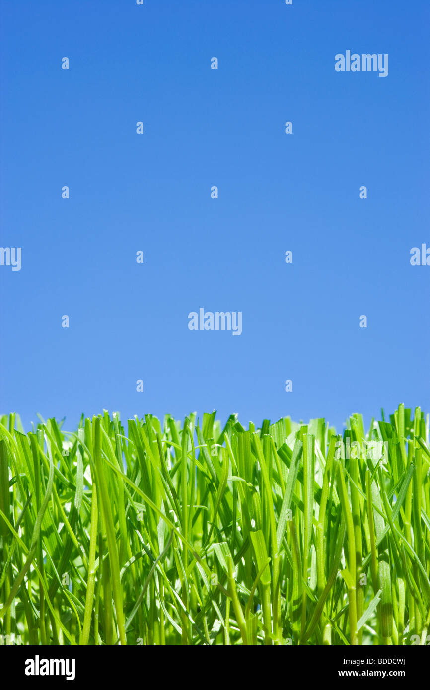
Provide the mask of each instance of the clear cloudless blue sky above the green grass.
{"label": "clear cloudless blue sky above the green grass", "polygon": [[[427,0],[3,0],[0,244],[22,268],[0,268],[1,411],[429,411],[430,266],[409,262],[429,20]],[[389,76],[335,72],[346,50]],[[242,311],[242,335],[189,331],[199,307]]]}

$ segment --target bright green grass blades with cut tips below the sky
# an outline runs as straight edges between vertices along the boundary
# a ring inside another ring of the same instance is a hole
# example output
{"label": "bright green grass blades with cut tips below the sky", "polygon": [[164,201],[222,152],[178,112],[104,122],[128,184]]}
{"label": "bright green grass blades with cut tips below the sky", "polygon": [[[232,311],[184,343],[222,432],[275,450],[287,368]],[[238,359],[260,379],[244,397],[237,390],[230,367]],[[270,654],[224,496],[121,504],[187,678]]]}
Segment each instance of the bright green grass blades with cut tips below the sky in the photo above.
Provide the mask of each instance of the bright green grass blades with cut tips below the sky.
{"label": "bright green grass blades with cut tips below the sky", "polygon": [[343,436],[0,417],[1,640],[429,644],[429,467],[428,416],[403,405]]}

